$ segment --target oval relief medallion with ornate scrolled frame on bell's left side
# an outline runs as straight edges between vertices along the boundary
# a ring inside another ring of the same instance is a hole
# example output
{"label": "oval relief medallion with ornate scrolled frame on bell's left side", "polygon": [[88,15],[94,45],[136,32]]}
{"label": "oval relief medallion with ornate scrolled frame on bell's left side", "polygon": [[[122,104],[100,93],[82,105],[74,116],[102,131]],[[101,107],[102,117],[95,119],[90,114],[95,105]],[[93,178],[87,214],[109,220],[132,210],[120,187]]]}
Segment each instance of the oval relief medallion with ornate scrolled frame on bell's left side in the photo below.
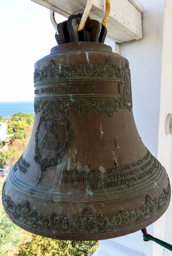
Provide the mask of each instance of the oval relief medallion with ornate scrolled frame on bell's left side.
{"label": "oval relief medallion with ornate scrolled frame on bell's left side", "polygon": [[72,129],[63,102],[60,100],[43,102],[35,134],[34,156],[35,162],[40,164],[41,171],[60,163],[72,139]]}

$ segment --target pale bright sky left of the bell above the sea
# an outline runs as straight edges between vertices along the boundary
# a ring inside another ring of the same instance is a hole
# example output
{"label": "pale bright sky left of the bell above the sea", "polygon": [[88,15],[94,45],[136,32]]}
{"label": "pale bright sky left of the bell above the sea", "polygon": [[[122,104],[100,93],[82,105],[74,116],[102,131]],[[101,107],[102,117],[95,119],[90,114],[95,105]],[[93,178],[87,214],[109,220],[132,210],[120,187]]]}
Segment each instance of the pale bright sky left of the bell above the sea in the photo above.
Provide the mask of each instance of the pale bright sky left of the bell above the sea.
{"label": "pale bright sky left of the bell above the sea", "polygon": [[[57,23],[66,18],[56,14]],[[31,0],[0,5],[0,102],[34,100],[34,63],[57,45],[49,10]]]}

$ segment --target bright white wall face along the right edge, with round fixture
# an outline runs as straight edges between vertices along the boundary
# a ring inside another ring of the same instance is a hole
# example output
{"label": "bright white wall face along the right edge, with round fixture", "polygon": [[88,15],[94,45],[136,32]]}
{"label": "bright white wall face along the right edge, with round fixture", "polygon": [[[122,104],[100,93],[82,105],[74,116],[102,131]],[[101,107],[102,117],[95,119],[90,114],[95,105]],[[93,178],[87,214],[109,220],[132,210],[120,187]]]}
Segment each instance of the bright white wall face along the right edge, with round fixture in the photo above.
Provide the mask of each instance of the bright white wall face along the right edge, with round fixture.
{"label": "bright white wall face along the right edge, with round fixture", "polygon": [[[169,175],[172,184],[172,136],[165,133],[166,116],[172,113],[172,0],[166,0],[165,19],[163,28],[163,55],[162,55],[162,76],[161,76],[161,104],[160,104],[160,122],[158,136],[158,159]],[[171,162],[171,163],[170,163]],[[164,215],[165,221],[158,221],[154,226],[154,236],[161,237],[163,230],[163,239],[172,244],[172,203]],[[161,250],[161,253],[159,252]],[[167,249],[159,248],[154,245],[154,255],[171,256],[172,252]],[[156,254],[157,253],[157,254]]]}

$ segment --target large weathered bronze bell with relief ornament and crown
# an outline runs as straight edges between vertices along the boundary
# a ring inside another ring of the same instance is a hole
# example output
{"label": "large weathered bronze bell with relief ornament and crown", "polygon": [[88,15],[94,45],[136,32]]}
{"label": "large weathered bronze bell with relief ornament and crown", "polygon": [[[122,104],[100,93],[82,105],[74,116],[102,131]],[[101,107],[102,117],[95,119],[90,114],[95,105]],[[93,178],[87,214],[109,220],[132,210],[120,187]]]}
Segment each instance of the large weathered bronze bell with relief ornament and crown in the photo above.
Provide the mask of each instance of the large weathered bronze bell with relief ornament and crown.
{"label": "large weathered bronze bell with relief ornament and crown", "polygon": [[100,240],[141,230],[169,206],[169,178],[132,113],[129,61],[80,15],[58,25],[58,46],[34,71],[34,127],[3,185],[3,207],[32,233]]}

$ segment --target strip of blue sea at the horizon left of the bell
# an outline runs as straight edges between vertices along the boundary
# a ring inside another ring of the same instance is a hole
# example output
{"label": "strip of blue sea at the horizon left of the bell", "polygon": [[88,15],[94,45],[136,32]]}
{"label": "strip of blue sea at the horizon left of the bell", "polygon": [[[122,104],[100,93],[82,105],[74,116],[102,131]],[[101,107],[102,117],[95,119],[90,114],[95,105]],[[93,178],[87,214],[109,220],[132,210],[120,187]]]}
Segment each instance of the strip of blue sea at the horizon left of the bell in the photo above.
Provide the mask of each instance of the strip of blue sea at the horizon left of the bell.
{"label": "strip of blue sea at the horizon left of the bell", "polygon": [[18,112],[34,114],[34,101],[0,102],[0,116],[7,118]]}

